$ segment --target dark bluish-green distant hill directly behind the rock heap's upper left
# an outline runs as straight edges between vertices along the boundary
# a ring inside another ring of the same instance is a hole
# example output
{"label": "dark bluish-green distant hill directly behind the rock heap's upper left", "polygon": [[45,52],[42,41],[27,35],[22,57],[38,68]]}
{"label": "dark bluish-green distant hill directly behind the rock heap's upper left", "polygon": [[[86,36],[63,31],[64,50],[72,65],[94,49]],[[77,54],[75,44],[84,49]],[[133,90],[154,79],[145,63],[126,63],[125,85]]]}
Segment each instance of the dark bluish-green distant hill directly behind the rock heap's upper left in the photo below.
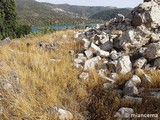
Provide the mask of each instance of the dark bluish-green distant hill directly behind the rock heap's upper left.
{"label": "dark bluish-green distant hill directly behind the rock heap's upper left", "polygon": [[124,16],[129,16],[131,13],[130,8],[119,8],[119,9],[111,9],[99,12],[90,17],[90,19],[100,19],[100,20],[110,20],[115,18],[117,14],[123,14]]}

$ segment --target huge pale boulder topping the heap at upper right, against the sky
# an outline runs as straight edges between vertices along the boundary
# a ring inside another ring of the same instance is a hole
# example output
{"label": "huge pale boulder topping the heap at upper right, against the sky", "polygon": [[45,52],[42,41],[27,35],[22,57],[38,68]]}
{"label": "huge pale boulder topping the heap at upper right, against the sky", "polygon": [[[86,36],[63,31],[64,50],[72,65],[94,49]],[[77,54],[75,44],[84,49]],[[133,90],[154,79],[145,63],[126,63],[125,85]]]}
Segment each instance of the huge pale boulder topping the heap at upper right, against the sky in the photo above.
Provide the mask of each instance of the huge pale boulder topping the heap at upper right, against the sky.
{"label": "huge pale boulder topping the heap at upper right, against the sky", "polygon": [[159,16],[160,9],[156,2],[153,0],[150,2],[144,2],[135,8],[132,23],[135,26],[145,24],[149,27],[157,28],[160,26]]}

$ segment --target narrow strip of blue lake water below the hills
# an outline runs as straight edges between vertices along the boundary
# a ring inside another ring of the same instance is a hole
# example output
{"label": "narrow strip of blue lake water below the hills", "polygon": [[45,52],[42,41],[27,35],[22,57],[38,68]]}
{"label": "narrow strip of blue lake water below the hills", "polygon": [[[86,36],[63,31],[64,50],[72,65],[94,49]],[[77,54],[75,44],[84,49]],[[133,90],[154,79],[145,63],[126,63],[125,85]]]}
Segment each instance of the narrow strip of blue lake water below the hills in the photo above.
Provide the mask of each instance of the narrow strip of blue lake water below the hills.
{"label": "narrow strip of blue lake water below the hills", "polygon": [[[79,24],[80,26],[82,27],[85,27],[85,26],[92,26],[92,27],[96,27],[96,24]],[[48,26],[50,28],[53,28],[55,30],[63,30],[63,29],[74,29],[77,25],[55,25],[55,26]],[[32,32],[37,32],[38,29],[40,28],[43,28],[43,26],[33,26],[32,27]]]}

